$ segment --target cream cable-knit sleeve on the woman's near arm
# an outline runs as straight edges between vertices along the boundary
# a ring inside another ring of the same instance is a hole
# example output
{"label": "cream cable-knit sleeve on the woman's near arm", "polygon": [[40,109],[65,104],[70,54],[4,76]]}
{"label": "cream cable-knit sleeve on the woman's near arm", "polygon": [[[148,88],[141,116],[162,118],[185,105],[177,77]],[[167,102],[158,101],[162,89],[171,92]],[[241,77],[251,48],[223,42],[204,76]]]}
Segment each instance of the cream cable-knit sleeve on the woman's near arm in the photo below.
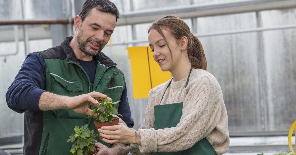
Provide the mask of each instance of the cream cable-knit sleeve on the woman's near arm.
{"label": "cream cable-knit sleeve on the woman's near arm", "polygon": [[204,76],[200,82],[191,82],[185,91],[188,92],[183,101],[183,115],[176,127],[139,130],[142,153],[186,150],[214,130],[223,103],[216,79]]}

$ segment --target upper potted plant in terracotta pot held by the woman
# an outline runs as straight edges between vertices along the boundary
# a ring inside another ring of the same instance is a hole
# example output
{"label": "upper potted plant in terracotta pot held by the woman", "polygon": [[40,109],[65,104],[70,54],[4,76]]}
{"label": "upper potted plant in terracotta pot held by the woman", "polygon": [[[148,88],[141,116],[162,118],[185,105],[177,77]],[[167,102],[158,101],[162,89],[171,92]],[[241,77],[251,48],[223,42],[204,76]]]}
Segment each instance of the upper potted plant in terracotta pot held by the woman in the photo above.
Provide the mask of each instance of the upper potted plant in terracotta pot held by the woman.
{"label": "upper potted plant in terracotta pot held by the woman", "polygon": [[[89,117],[96,116],[96,120],[94,121],[94,125],[96,128],[99,130],[101,127],[104,126],[112,126],[112,125],[117,125],[119,123],[118,118],[114,118],[113,115],[118,115],[118,109],[114,107],[114,104],[118,104],[121,101],[117,102],[112,102],[112,100],[106,100],[101,98],[98,101],[101,105],[98,108],[94,108],[93,114]],[[100,139],[102,140],[103,137],[100,136]]]}

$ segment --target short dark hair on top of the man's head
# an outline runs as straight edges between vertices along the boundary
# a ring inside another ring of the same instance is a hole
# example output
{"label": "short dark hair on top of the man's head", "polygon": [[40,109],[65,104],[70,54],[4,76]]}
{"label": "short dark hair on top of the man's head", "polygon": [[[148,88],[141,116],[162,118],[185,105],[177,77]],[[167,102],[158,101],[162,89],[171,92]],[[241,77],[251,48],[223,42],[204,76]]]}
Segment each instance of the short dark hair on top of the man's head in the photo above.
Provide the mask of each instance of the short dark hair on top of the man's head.
{"label": "short dark hair on top of the man's head", "polygon": [[120,13],[115,4],[109,0],[86,0],[79,13],[79,16],[81,17],[82,21],[84,21],[84,19],[89,15],[91,9],[93,8],[96,8],[96,10],[98,11],[108,12],[115,15],[116,21],[120,16]]}

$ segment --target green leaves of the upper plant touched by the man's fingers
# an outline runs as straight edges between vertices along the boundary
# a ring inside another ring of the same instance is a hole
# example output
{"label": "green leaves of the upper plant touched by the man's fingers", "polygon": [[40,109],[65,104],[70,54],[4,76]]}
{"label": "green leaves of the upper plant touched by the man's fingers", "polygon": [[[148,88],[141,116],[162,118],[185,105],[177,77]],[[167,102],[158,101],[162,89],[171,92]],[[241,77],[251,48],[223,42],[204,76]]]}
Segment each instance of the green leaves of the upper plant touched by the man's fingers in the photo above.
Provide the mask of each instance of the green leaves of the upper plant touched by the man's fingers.
{"label": "green leaves of the upper plant touched by the man's fingers", "polygon": [[89,117],[97,116],[96,121],[97,123],[105,123],[105,122],[112,122],[114,117],[113,115],[119,115],[118,110],[114,107],[114,104],[118,104],[121,101],[112,102],[112,100],[106,100],[101,98],[99,101],[101,105],[98,108],[93,110],[93,114]]}

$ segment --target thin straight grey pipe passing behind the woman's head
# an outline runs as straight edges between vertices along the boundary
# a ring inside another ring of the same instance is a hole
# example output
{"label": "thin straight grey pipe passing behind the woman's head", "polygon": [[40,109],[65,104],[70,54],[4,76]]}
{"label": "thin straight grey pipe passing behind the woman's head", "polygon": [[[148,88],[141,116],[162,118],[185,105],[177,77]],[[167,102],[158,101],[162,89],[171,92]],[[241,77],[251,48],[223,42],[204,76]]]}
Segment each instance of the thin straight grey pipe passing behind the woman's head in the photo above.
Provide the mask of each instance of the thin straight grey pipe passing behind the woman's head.
{"label": "thin straight grey pipe passing behind the woman's head", "polygon": [[[296,28],[296,24],[281,25],[281,26],[275,26],[275,27],[271,27],[271,28],[251,28],[251,29],[245,29],[245,30],[222,31],[222,32],[212,32],[212,33],[195,33],[193,35],[197,36],[197,37],[209,37],[209,36],[221,36],[221,35],[229,35],[229,34],[237,34],[237,33],[250,33],[250,32],[260,32],[260,31],[281,30],[281,29],[289,29],[289,28]],[[123,41],[123,42],[117,42],[117,43],[115,42],[115,43],[112,43],[112,46],[137,44],[137,43],[144,43],[144,42],[148,42],[148,40],[141,39],[141,40],[131,40],[131,41]],[[109,43],[106,46],[109,46]]]}

